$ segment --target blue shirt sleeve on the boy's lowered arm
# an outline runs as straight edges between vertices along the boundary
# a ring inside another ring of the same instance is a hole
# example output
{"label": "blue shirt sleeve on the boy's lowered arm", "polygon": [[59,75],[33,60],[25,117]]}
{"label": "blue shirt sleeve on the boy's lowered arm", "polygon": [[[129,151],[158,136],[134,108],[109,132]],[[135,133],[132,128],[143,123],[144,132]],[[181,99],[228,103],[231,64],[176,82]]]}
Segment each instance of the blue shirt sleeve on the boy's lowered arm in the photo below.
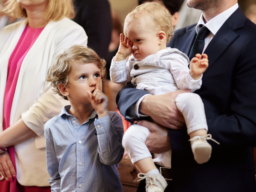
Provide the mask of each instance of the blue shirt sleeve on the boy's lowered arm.
{"label": "blue shirt sleeve on the boy's lowered arm", "polygon": [[56,157],[53,138],[48,124],[44,126],[44,138],[46,141],[46,165],[51,177],[48,181],[52,191],[60,192],[59,162]]}

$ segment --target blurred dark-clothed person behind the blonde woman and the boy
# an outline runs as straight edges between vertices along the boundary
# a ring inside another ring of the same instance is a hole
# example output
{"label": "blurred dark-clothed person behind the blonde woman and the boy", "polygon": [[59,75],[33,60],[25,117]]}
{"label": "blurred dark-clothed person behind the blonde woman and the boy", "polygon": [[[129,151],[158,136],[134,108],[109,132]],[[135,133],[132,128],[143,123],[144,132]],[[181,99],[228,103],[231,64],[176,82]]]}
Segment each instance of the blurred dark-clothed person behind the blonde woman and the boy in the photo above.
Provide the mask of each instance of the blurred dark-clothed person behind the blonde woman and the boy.
{"label": "blurred dark-clothed person behind the blonde woman and the boy", "polygon": [[74,0],[76,16],[88,36],[88,47],[106,58],[111,40],[111,13],[108,0]]}

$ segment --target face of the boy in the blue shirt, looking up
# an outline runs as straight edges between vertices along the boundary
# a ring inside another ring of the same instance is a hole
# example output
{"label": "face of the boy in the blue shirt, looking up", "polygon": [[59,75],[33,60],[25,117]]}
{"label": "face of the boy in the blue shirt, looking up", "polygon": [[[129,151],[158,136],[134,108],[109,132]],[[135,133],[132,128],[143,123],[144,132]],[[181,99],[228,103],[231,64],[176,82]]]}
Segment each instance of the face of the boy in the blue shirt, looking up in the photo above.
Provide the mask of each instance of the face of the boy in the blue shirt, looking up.
{"label": "face of the boy in the blue shirt, looking up", "polygon": [[[75,62],[68,75],[68,87],[66,88],[69,92],[68,100],[73,104],[91,103],[86,91],[93,92],[95,90],[98,78],[101,78],[100,68],[96,64]],[[102,91],[101,79],[100,91]]]}

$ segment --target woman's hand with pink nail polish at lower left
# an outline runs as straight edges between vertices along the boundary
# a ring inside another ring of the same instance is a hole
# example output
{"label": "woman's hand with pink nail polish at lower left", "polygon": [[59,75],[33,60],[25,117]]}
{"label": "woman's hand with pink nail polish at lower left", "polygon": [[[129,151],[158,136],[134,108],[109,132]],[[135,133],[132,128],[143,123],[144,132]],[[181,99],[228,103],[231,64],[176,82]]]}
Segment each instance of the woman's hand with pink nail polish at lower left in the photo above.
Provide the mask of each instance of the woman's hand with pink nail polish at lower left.
{"label": "woman's hand with pink nail polish at lower left", "polygon": [[11,157],[7,152],[0,154],[0,172],[2,173],[3,177],[7,178],[9,181],[12,181],[12,178],[16,178]]}

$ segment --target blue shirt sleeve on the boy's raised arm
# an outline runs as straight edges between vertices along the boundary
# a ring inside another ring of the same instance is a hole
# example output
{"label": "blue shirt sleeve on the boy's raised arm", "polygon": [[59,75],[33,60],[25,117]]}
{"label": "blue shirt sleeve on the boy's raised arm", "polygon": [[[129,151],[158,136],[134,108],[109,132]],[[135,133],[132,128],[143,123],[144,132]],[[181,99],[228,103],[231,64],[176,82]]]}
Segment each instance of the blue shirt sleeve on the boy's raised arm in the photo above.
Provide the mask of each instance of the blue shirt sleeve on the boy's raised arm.
{"label": "blue shirt sleeve on the boy's raised arm", "polygon": [[108,116],[96,118],[94,125],[98,135],[100,162],[107,165],[118,164],[124,155],[124,127],[121,116],[109,111]]}

